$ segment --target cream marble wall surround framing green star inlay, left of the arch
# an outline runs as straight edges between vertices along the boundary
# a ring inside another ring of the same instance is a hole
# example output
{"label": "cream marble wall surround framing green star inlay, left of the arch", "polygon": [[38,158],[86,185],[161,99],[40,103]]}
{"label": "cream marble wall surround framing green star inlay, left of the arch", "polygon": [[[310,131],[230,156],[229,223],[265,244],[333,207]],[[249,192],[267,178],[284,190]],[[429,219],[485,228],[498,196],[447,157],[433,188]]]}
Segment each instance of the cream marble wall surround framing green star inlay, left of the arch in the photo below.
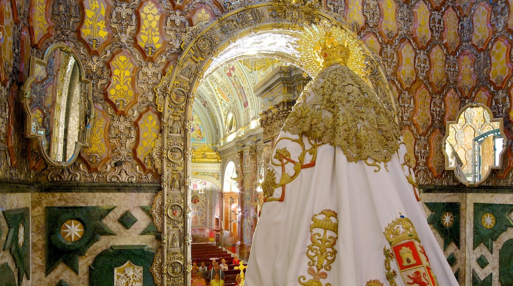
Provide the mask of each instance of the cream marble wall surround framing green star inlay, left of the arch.
{"label": "cream marble wall surround framing green star inlay, left of the arch", "polygon": [[[151,206],[154,193],[34,193],[32,194],[32,284],[55,285],[65,280],[70,285],[89,283],[89,265],[96,255],[112,245],[160,245],[154,235],[139,235],[152,223],[140,206]],[[64,206],[115,206],[102,220],[116,235],[100,236],[84,256],[78,257],[78,275],[61,263],[45,276],[45,208]],[[137,221],[127,230],[118,219],[129,211]]]}

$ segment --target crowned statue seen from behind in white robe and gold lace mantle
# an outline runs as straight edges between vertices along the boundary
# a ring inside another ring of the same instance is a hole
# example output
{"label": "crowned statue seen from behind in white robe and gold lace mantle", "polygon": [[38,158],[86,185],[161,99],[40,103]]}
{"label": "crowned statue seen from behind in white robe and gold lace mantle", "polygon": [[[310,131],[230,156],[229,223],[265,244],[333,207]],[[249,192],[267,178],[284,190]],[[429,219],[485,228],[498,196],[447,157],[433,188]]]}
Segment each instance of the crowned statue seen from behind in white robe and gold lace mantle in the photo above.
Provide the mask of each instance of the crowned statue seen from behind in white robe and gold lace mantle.
{"label": "crowned statue seen from behind in white robe and gold lace mantle", "polygon": [[320,71],[272,151],[244,285],[458,285],[363,43],[340,27],[305,35],[322,36],[303,49]]}

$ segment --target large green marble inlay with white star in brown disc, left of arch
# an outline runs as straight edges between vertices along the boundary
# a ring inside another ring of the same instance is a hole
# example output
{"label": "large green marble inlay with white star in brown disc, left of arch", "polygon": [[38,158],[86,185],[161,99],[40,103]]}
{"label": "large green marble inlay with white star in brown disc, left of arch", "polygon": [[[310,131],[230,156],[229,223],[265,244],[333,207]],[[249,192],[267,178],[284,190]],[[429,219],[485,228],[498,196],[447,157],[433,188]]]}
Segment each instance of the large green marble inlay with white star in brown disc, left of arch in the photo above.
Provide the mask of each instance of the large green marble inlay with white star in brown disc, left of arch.
{"label": "large green marble inlay with white star in brown disc, left of arch", "polygon": [[78,274],[78,256],[101,235],[116,235],[101,221],[114,208],[46,207],[46,275],[61,262]]}

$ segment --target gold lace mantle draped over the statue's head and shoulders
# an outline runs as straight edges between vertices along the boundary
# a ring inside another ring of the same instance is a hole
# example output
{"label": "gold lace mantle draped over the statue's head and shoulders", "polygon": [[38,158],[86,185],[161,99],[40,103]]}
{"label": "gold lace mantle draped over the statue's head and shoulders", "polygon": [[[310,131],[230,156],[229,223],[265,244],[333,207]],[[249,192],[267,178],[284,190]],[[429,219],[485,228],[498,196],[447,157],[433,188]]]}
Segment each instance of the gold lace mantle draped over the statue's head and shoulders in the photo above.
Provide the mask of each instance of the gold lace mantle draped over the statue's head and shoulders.
{"label": "gold lace mantle draped over the statue's head and shoulders", "polygon": [[[340,146],[351,162],[376,166],[399,149],[399,127],[371,88],[348,67],[324,69],[298,98],[283,131]],[[369,161],[369,158],[373,161]]]}

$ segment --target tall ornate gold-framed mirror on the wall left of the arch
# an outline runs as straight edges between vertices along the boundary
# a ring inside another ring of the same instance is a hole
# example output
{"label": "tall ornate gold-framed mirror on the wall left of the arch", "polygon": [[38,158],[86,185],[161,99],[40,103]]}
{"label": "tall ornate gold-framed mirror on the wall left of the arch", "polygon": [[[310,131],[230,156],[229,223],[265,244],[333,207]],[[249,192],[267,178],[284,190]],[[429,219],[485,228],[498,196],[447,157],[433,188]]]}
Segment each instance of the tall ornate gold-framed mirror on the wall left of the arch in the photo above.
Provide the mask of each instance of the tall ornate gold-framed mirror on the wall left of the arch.
{"label": "tall ornate gold-framed mirror on the wall left of the arch", "polygon": [[52,44],[43,59],[30,58],[23,86],[26,135],[38,140],[46,162],[64,168],[86,145],[93,114],[91,83],[78,56],[64,43]]}

